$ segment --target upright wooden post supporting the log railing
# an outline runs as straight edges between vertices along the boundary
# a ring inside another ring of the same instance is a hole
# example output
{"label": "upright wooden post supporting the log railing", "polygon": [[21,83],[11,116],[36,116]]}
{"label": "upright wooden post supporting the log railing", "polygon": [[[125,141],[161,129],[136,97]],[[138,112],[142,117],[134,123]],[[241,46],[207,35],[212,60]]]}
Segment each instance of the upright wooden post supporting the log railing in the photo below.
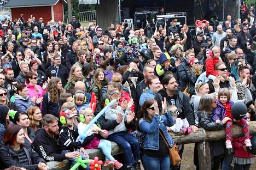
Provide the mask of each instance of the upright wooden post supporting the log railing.
{"label": "upright wooden post supporting the log railing", "polygon": [[197,143],[198,162],[200,170],[211,170],[211,155],[209,142],[205,142],[205,154],[203,142]]}

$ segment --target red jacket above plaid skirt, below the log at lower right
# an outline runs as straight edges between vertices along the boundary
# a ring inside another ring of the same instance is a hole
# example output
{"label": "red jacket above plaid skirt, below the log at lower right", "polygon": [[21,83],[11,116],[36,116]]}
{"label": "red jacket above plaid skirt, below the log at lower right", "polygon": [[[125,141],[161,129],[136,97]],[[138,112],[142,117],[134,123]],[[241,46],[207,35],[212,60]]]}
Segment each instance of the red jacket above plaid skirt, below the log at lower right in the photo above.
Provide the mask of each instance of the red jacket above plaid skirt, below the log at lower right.
{"label": "red jacket above plaid skirt, below the log at lower right", "polygon": [[232,139],[232,146],[235,149],[235,156],[236,157],[253,157],[254,155],[249,153],[248,151],[243,150],[243,145],[245,145],[245,136],[243,137],[234,137]]}

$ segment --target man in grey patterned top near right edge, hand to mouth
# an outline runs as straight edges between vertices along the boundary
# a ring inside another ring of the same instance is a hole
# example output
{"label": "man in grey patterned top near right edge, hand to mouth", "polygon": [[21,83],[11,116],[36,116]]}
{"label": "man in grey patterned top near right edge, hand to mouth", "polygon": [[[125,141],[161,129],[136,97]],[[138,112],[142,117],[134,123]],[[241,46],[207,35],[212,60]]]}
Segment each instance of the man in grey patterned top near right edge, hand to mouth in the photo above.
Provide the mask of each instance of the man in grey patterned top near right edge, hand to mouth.
{"label": "man in grey patterned top near right edge, hand to mouth", "polygon": [[237,99],[243,100],[247,98],[246,90],[249,90],[249,84],[251,83],[249,68],[247,66],[241,66],[238,69],[238,76],[239,79],[235,81],[237,88]]}

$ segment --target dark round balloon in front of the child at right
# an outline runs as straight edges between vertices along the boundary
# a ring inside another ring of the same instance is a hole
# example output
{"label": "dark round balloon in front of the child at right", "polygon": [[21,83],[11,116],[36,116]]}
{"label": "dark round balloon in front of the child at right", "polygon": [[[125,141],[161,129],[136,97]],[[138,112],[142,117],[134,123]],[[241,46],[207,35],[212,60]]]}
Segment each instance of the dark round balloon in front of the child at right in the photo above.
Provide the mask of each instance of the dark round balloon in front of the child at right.
{"label": "dark round balloon in front of the child at right", "polygon": [[241,101],[235,102],[235,104],[231,106],[231,114],[233,118],[236,120],[240,120],[244,118],[246,116],[246,113],[247,113],[247,107]]}

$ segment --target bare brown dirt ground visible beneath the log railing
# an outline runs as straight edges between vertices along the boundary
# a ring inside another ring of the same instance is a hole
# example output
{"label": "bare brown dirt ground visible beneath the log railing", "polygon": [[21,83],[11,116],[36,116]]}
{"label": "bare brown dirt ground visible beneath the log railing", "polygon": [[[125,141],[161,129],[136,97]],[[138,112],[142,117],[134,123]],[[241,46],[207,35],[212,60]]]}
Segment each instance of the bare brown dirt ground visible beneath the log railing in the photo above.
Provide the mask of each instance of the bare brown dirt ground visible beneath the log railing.
{"label": "bare brown dirt ground visible beneath the log railing", "polygon": [[[185,144],[184,151],[182,155],[182,167],[181,170],[194,170],[196,167],[194,166],[194,143]],[[250,169],[256,169],[256,157],[254,157],[254,163],[251,165]]]}

